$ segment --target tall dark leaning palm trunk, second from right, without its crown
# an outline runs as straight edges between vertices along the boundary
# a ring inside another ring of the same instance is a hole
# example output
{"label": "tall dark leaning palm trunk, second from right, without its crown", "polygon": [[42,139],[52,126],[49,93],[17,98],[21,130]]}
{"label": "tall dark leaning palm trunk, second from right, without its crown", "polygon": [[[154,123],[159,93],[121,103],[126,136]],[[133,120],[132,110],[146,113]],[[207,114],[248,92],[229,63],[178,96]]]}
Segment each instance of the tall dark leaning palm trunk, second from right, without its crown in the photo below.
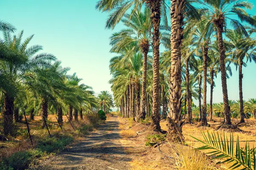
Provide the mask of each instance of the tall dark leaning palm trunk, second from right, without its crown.
{"label": "tall dark leaning palm trunk, second from right, without its crown", "polygon": [[214,24],[217,27],[217,40],[218,40],[218,50],[219,50],[219,61],[220,61],[220,70],[221,70],[221,85],[222,85],[222,94],[224,102],[224,115],[225,115],[225,124],[231,125],[230,119],[230,106],[228,103],[227,95],[227,77],[226,77],[226,68],[225,68],[225,48],[223,46],[223,23],[221,21],[216,21]]}

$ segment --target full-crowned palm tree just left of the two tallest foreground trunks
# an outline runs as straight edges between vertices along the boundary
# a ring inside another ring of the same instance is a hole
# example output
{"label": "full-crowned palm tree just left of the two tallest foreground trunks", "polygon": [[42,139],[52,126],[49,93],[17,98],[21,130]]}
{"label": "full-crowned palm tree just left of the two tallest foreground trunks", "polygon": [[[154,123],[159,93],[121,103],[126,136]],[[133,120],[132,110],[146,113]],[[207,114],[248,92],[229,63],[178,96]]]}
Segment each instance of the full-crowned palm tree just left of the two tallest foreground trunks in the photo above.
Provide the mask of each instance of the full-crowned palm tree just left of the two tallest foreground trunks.
{"label": "full-crowned palm tree just left of the two tallest foreground trunks", "polygon": [[150,43],[150,11],[145,8],[143,12],[136,11],[133,15],[126,14],[122,23],[127,27],[111,36],[112,45],[111,52],[119,52],[127,46],[131,46],[133,50],[138,51],[140,47],[143,53],[143,78],[142,78],[142,105],[139,119],[145,119],[146,106],[146,78],[147,78],[147,56]]}

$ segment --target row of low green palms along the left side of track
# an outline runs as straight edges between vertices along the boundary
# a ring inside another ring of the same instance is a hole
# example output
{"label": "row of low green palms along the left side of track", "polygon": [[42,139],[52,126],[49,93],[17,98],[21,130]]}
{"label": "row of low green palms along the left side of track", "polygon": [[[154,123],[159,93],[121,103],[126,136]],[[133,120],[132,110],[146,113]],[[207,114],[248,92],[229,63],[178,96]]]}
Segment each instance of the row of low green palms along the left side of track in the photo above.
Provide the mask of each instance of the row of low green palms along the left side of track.
{"label": "row of low green palms along the left side of track", "polygon": [[[29,46],[34,35],[23,39],[23,31],[13,34],[16,28],[0,20],[0,110],[3,113],[3,133],[12,133],[13,115],[15,122],[22,114],[29,113],[30,119],[42,116],[45,127],[49,113],[56,113],[62,125],[63,114],[70,121],[78,120],[78,113],[96,113],[104,105],[109,111],[113,106],[112,96],[103,91],[94,96],[93,89],[81,83],[81,78],[67,74],[70,68],[61,67],[53,54],[40,53],[41,45]],[[107,109],[107,110],[106,110]]]}

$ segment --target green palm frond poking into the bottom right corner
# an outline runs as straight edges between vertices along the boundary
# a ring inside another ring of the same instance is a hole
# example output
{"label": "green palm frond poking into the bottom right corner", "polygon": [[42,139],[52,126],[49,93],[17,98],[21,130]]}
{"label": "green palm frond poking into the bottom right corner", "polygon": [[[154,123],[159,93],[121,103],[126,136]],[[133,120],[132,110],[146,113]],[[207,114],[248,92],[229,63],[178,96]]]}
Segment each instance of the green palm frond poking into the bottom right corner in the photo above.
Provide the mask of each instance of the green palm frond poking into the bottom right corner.
{"label": "green palm frond poking into the bottom right corner", "polygon": [[241,167],[241,170],[256,170],[256,157],[255,150],[256,148],[250,149],[249,142],[245,142],[245,147],[240,148],[239,137],[236,139],[236,148],[234,145],[233,133],[230,133],[230,140],[228,140],[227,134],[217,132],[207,133],[201,132],[205,142],[191,136],[197,141],[205,144],[202,147],[196,148],[196,150],[213,150],[210,151],[209,156],[213,156],[213,159],[224,159],[219,164],[224,162],[233,163],[230,169],[236,169]]}

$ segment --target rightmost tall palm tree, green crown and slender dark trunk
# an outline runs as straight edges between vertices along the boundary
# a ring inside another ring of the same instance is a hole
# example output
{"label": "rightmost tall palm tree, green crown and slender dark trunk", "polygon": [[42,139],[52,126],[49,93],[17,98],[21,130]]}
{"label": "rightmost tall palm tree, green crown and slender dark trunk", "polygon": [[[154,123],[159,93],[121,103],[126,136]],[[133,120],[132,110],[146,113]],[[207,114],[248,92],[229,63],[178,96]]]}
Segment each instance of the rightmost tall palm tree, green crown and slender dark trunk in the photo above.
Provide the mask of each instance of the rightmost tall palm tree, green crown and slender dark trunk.
{"label": "rightmost tall palm tree, green crown and slender dark trunk", "polygon": [[242,90],[242,67],[246,66],[247,61],[256,62],[256,39],[243,35],[239,30],[228,30],[226,37],[230,39],[228,45],[231,50],[231,61],[239,68],[239,100],[240,100],[240,123],[244,123],[244,103]]}

